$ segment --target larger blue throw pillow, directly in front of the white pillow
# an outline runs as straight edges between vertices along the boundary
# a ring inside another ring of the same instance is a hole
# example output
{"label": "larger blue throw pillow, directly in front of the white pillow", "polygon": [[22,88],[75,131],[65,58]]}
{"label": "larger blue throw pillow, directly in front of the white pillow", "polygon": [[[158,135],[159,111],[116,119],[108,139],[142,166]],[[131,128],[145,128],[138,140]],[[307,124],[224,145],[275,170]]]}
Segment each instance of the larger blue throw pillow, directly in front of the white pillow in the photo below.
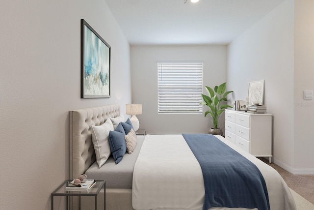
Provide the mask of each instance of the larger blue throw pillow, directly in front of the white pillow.
{"label": "larger blue throw pillow, directly in front of the white pillow", "polygon": [[120,163],[127,151],[126,140],[124,138],[125,135],[126,133],[124,132],[121,123],[117,125],[114,131],[109,131],[109,145],[116,164]]}

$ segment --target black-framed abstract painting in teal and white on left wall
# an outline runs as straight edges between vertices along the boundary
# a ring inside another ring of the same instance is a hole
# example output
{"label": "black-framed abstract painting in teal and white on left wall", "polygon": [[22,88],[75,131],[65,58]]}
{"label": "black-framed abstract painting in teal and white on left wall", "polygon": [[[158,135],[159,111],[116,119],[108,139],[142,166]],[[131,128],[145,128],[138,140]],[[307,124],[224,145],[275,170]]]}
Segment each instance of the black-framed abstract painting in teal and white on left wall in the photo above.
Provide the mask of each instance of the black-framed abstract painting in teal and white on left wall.
{"label": "black-framed abstract painting in teal and white on left wall", "polygon": [[110,97],[110,49],[81,19],[81,98]]}

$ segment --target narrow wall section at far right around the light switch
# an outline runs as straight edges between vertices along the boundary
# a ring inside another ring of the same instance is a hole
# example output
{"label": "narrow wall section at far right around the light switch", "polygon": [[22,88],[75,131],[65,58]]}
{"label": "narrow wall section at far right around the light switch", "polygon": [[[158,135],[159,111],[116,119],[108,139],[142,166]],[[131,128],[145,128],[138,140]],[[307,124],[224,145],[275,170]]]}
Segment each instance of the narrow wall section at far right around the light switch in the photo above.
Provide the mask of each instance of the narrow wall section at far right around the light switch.
{"label": "narrow wall section at far right around the light switch", "polygon": [[294,38],[294,168],[314,174],[314,101],[303,90],[314,90],[314,1],[295,0]]}

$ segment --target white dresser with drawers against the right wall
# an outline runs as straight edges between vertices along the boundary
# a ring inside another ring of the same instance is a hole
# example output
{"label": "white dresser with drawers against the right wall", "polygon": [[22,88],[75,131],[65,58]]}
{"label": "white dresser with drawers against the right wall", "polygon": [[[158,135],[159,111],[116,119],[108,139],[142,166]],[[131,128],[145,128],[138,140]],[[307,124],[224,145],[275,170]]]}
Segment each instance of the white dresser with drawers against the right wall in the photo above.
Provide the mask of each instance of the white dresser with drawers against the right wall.
{"label": "white dresser with drawers against the right wall", "polygon": [[225,138],[256,157],[269,157],[271,162],[272,115],[225,112]]}

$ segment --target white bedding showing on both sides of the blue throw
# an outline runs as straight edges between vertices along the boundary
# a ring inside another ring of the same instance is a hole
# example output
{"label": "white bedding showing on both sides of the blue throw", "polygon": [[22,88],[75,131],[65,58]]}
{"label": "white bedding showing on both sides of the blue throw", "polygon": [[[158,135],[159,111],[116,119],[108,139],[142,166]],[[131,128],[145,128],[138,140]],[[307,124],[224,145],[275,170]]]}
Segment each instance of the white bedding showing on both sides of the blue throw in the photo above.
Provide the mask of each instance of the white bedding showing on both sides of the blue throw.
{"label": "white bedding showing on both sides of the blue throw", "polygon": [[[296,210],[279,173],[253,155],[216,136],[253,162],[266,182],[271,210]],[[204,182],[201,167],[182,135],[146,135],[133,171],[135,210],[202,210]],[[211,208],[221,210],[228,208]],[[238,208],[236,210],[244,210]]]}

